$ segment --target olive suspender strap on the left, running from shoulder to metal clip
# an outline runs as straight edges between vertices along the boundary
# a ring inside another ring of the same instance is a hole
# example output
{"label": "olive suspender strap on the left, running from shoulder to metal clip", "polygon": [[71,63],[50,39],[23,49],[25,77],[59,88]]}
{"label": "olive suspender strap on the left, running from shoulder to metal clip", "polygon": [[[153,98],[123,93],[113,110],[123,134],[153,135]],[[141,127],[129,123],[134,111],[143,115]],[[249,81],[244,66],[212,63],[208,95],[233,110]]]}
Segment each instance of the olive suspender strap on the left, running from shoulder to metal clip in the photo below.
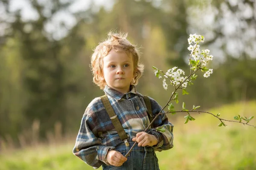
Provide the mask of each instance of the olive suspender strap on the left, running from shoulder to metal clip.
{"label": "olive suspender strap on the left, running from shoulder to metal clip", "polygon": [[104,95],[104,96],[101,96],[100,98],[102,99],[102,103],[103,103],[103,105],[104,105],[104,107],[105,107],[105,109],[108,113],[108,116],[110,117],[111,122],[113,123],[113,125],[116,129],[116,132],[118,133],[120,139],[125,142],[125,146],[129,146],[129,143],[128,143],[128,140],[127,140],[128,136],[125,133],[125,130],[122,127],[115,111],[113,110],[113,108],[112,108],[112,106],[111,106],[111,104],[108,100],[108,97],[106,95]]}

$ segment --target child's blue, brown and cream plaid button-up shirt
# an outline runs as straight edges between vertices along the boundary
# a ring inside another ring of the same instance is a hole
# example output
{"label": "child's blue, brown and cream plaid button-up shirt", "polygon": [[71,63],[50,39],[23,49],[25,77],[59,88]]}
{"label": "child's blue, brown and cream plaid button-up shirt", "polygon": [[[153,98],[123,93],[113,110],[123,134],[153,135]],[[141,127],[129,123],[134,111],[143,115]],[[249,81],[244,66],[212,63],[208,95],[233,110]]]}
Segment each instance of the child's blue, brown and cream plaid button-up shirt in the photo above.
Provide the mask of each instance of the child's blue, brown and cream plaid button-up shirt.
{"label": "child's blue, brown and cream plaid button-up shirt", "polygon": [[[129,138],[128,141],[132,142],[132,138],[136,137],[138,132],[144,131],[150,123],[143,95],[136,91],[134,85],[131,85],[131,91],[127,94],[120,93],[108,85],[105,86],[104,91]],[[154,99],[150,97],[149,99],[152,113],[155,116],[162,108]],[[147,131],[157,137],[159,142],[153,146],[157,151],[173,147],[173,125],[168,122],[166,114],[158,116],[154,121],[154,127],[162,125],[164,125],[165,132],[158,132],[155,128]],[[96,169],[103,163],[108,164],[106,161],[108,150],[115,150],[115,147],[122,143],[102,100],[100,97],[93,99],[82,117],[73,149],[74,155]]]}

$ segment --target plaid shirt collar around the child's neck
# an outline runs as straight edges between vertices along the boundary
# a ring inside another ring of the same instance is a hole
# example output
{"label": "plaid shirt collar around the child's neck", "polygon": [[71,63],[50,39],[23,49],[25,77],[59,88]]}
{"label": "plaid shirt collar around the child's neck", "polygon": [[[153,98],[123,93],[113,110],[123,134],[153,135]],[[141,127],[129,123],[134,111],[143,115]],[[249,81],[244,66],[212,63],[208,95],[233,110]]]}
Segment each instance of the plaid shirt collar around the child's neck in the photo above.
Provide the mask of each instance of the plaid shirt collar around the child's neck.
{"label": "plaid shirt collar around the child's neck", "polygon": [[[134,95],[142,96],[136,91],[136,87],[134,85],[130,85],[130,91],[128,93],[121,93],[119,91],[116,91],[115,89],[109,87],[108,85],[105,85],[104,92],[107,96],[110,96],[116,101],[120,101],[122,98],[124,99],[130,99],[134,97]],[[143,96],[142,96],[143,97]]]}

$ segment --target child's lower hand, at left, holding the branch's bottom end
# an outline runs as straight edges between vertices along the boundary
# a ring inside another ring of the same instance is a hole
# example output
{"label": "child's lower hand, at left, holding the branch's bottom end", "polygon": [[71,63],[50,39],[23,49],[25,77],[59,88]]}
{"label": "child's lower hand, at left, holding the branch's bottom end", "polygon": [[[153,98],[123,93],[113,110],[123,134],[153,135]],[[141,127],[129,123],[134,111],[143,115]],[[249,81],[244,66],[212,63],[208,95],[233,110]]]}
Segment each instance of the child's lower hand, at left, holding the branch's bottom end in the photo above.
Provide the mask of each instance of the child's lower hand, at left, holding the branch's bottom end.
{"label": "child's lower hand, at left, holding the branch's bottom end", "polygon": [[107,154],[107,161],[113,166],[120,167],[125,161],[127,161],[127,158],[116,150],[109,150]]}

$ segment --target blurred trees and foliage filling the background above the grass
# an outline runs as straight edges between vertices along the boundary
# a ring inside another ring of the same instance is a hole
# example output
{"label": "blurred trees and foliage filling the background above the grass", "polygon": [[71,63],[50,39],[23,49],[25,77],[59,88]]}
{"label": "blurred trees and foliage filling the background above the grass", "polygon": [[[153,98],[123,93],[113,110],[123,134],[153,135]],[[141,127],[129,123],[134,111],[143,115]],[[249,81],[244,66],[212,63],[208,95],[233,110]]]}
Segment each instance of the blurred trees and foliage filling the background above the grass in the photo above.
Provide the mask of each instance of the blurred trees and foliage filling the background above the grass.
{"label": "blurred trees and foliage filling the background above the grass", "polygon": [[20,147],[76,135],[88,103],[103,94],[92,83],[89,63],[110,30],[127,31],[143,47],[145,74],[137,90],[160,105],[172,90],[162,88],[151,66],[188,71],[187,38],[194,33],[204,35],[214,71],[187,88],[187,107],[256,99],[253,0],[87,1],[82,10],[74,8],[78,0],[26,0],[31,17],[17,2],[0,0],[1,150],[7,143]]}

